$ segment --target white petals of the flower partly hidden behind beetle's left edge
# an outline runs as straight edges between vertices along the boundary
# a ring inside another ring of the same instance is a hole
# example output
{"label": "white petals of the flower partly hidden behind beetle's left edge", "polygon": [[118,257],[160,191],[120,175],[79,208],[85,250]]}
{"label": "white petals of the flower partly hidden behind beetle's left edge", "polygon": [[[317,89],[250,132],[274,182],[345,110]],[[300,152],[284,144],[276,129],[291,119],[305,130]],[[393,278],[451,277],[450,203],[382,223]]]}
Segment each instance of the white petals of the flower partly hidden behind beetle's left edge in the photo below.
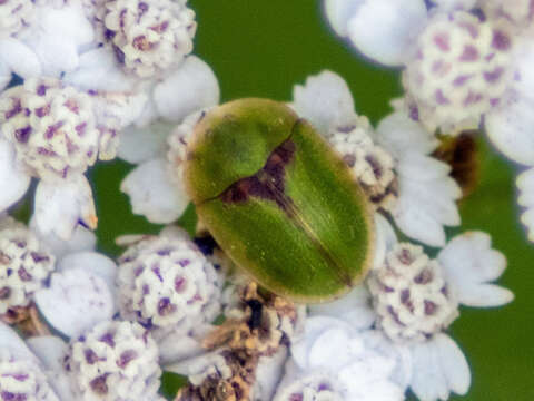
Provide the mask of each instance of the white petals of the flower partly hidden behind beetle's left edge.
{"label": "white petals of the flower partly hidden behind beetle's left edge", "polygon": [[[121,190],[130,196],[134,213],[158,224],[174,222],[184,213],[189,197],[179,173],[182,167],[174,157],[180,151],[176,145],[180,144],[179,138],[192,134],[199,110],[218,101],[219,86],[214,72],[194,56],[155,86],[151,106],[145,110],[147,116],[141,117],[139,125],[125,129],[119,148],[119,157],[138,164],[121,184]],[[181,125],[172,133],[176,123]],[[174,149],[170,160],[167,139]]]}

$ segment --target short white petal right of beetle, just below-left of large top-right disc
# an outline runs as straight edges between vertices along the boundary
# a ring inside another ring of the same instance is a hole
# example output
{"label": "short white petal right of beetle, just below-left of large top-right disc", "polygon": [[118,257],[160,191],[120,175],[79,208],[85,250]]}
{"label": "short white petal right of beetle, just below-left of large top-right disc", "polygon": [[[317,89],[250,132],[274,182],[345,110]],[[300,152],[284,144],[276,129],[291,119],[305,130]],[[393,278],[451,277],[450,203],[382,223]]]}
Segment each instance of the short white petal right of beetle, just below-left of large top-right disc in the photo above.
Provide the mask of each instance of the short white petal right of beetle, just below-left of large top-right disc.
{"label": "short white petal right of beetle, just below-left of large top-right disc", "polygon": [[407,151],[428,155],[439,144],[434,135],[404,111],[395,111],[384,117],[378,123],[376,134],[377,141],[396,158],[400,158]]}

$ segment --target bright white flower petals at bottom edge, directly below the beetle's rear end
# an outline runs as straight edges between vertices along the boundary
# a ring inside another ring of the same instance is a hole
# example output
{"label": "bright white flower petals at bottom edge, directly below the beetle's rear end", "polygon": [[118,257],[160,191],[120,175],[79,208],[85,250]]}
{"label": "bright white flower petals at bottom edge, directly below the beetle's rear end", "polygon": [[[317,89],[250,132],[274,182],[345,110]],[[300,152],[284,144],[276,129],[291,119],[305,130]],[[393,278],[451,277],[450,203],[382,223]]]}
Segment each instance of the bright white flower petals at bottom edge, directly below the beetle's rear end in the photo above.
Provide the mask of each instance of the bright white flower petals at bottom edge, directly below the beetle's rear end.
{"label": "bright white flower petals at bottom edge, directly below the beetle's rear end", "polygon": [[379,332],[358,332],[343,321],[314,316],[290,351],[275,401],[404,400],[409,354]]}

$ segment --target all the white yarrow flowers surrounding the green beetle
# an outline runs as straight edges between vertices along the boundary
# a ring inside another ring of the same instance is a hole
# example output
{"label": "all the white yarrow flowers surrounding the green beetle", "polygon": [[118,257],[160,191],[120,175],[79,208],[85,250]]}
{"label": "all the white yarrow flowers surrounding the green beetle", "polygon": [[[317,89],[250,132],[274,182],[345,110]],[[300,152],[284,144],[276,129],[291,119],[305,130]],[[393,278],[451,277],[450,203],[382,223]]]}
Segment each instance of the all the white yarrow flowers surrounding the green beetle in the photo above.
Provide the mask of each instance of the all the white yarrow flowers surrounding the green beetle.
{"label": "all the white yarrow flowers surrounding the green beetle", "polygon": [[[188,401],[465,394],[448,329],[461,305],[514,295],[494,284],[506,260],[487,234],[447,238],[462,190],[436,134],[482,126],[534,166],[531,2],[325,0],[339,36],[403,68],[406,96],[373,126],[333,71],[294,87],[288,106],[350,169],[375,234],[360,284],[297,305],[234,271],[206,233],[126,235],[116,261],[96,251],[98,159],[136,165],[120,189],[151,223],[190,203],[188,144],[220,94],[190,55],[187,0],[0,1],[0,399],[160,401],[164,370],[188,376],[176,398]],[[6,211],[32,179],[27,226]],[[534,232],[534,170],[517,185]]]}

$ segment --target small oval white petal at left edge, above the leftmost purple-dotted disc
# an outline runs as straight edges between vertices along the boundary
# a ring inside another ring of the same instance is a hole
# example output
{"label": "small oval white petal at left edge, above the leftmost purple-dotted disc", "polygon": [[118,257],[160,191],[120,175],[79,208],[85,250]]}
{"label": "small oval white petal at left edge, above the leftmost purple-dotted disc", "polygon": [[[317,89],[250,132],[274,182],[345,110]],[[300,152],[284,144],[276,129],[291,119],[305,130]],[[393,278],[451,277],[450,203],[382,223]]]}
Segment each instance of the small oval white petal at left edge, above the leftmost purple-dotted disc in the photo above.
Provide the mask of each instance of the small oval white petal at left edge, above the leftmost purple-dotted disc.
{"label": "small oval white petal at left edge, above the leftmost purple-dotted disc", "polygon": [[24,79],[41,75],[41,63],[33,50],[12,38],[0,39],[0,61]]}

